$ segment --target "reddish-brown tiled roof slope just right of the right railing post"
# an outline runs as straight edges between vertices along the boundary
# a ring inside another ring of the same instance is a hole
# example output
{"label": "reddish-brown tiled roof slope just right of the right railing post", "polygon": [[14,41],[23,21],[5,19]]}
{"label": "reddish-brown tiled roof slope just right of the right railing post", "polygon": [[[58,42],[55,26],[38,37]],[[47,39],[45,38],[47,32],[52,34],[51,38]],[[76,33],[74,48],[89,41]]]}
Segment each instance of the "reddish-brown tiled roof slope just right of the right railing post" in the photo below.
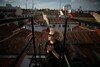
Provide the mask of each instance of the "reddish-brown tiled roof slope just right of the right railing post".
{"label": "reddish-brown tiled roof slope just right of the right railing post", "polygon": [[93,31],[72,31],[66,36],[71,44],[100,44],[100,37]]}

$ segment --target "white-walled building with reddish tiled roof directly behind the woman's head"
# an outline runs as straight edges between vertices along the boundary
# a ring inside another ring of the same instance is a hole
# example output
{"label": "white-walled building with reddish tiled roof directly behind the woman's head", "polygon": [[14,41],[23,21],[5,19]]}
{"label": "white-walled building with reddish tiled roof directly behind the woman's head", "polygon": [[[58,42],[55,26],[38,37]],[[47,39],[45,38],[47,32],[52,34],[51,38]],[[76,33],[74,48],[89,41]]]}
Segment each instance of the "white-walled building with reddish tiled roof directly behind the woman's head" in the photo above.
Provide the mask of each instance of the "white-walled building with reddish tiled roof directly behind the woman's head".
{"label": "white-walled building with reddish tiled roof directly behind the woman's head", "polygon": [[[64,15],[63,11],[49,10],[43,13],[44,20],[46,21],[48,27],[54,27],[61,31],[64,31],[65,19],[61,18],[60,15]],[[77,23],[73,22],[72,20],[69,20],[67,30],[71,31],[72,28],[76,25]]]}

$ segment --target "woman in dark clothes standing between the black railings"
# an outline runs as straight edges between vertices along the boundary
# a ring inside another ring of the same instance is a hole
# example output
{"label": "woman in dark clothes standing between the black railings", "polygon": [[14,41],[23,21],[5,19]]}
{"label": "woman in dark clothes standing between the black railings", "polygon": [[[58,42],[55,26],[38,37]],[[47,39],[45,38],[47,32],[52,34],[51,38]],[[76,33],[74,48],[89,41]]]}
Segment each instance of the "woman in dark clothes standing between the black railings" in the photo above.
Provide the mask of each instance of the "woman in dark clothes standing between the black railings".
{"label": "woman in dark clothes standing between the black railings", "polygon": [[61,42],[56,38],[58,38],[56,30],[50,28],[48,41],[45,45],[46,61],[49,67],[60,67]]}

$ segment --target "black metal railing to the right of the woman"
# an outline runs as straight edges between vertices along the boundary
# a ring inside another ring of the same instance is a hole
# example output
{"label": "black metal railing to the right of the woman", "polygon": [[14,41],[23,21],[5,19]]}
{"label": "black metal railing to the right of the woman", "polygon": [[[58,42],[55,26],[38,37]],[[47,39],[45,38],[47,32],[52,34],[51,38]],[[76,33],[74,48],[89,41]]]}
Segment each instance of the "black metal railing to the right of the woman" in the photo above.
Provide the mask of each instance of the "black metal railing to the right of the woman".
{"label": "black metal railing to the right of the woman", "polygon": [[[64,28],[64,41],[63,41],[63,58],[65,58],[65,62],[67,64],[67,67],[71,67],[71,61],[70,61],[70,56],[69,56],[69,52],[68,49],[66,48],[66,32],[67,32],[67,24],[68,24],[68,20],[73,20],[73,21],[77,21],[79,26],[81,26],[82,24],[84,24],[84,26],[93,26],[94,28],[100,28],[100,22],[92,22],[92,21],[85,21],[85,20],[80,20],[80,19],[75,19],[75,18],[65,18],[65,28]],[[84,66],[86,65],[84,63],[84,61],[82,61]]]}

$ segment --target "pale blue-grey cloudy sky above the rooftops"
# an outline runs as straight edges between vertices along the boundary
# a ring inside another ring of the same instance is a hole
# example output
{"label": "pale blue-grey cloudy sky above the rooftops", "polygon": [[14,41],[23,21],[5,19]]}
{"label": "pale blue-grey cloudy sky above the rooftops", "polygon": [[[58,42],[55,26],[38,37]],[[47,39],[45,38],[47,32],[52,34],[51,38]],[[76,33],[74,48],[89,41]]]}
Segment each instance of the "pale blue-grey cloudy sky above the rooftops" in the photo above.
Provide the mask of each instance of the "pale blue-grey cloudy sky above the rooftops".
{"label": "pale blue-grey cloudy sky above the rooftops", "polygon": [[[12,4],[13,6],[19,6],[26,8],[25,4],[27,2],[27,8],[32,8],[32,0],[0,0],[0,5]],[[34,7],[38,9],[50,8],[50,9],[60,9],[66,4],[70,4],[72,9],[78,9],[82,6],[84,10],[100,10],[100,0],[33,0]]]}

